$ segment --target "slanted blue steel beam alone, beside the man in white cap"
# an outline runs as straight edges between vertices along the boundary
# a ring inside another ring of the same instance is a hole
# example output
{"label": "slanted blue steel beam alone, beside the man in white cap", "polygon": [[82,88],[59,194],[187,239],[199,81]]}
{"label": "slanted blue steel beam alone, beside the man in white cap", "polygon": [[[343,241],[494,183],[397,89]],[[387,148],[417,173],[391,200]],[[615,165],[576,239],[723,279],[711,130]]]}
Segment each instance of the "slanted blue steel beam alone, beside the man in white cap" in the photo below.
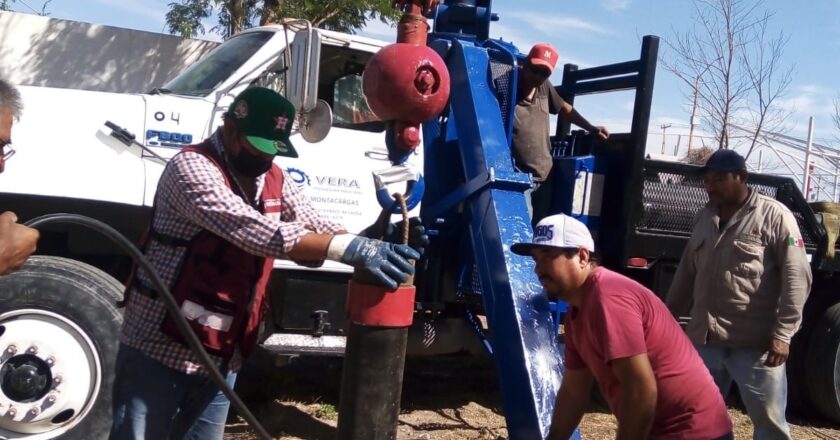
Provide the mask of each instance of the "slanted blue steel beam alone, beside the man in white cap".
{"label": "slanted blue steel beam alone, beside the man in white cap", "polygon": [[[452,40],[447,58],[448,123],[455,124],[464,181],[493,176],[466,208],[508,432],[514,440],[545,438],[562,378],[562,354],[533,261],[509,251],[512,243],[531,239],[522,193],[529,180],[513,169],[499,102],[488,84],[487,51]],[[427,163],[435,165],[443,166]]]}

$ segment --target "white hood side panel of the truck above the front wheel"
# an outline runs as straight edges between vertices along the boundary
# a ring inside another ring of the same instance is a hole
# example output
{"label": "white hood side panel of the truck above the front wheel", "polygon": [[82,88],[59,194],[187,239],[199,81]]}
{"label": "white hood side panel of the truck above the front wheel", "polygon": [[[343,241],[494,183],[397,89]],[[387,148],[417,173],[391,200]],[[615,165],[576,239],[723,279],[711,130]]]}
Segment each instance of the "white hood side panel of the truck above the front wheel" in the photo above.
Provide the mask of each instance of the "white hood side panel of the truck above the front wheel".
{"label": "white hood side panel of the truck above the front wheel", "polygon": [[139,149],[109,136],[105,127],[113,121],[139,130],[142,98],[34,86],[19,90],[26,111],[13,128],[17,152],[0,179],[0,193],[142,204]]}

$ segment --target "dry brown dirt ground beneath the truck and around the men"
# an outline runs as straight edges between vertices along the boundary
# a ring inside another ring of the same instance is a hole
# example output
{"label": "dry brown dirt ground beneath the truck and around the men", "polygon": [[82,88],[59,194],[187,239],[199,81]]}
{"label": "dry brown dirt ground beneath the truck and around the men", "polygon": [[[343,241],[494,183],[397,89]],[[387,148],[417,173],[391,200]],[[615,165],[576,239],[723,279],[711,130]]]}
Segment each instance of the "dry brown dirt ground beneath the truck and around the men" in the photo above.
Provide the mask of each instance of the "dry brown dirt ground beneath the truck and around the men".
{"label": "dry brown dirt ground beneath the truck and around the men", "polygon": [[[256,380],[256,378],[260,380]],[[277,439],[334,439],[338,419],[341,360],[299,359],[284,367],[260,362],[240,375],[237,390]],[[739,409],[729,411],[736,439],[751,439],[752,425]],[[840,427],[792,417],[794,439],[840,439]],[[474,357],[409,359],[398,438],[402,440],[507,439],[492,362]],[[615,438],[615,418],[593,407],[580,426],[584,439]],[[225,440],[257,437],[231,416]]]}

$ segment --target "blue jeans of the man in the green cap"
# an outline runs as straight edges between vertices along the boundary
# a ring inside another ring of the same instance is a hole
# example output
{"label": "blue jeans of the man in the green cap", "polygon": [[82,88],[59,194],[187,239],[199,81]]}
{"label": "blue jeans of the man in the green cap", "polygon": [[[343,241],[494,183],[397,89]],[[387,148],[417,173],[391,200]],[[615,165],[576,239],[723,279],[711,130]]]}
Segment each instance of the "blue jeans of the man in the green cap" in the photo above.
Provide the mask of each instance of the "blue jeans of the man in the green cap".
{"label": "blue jeans of the man in the green cap", "polygon": [[[232,387],[236,373],[228,373]],[[230,401],[206,376],[173,370],[120,345],[110,440],[221,440]]]}

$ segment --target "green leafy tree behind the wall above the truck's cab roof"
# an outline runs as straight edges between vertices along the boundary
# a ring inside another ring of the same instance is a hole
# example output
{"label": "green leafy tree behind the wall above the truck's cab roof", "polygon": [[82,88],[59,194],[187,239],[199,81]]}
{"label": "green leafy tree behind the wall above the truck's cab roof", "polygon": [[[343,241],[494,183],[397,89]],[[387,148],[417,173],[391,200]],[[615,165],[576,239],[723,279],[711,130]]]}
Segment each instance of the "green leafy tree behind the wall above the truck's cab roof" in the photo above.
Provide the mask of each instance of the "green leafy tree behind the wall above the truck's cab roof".
{"label": "green leafy tree behind the wall above the truck's cab roof", "polygon": [[396,20],[400,13],[390,0],[180,0],[169,4],[166,23],[169,32],[183,37],[205,33],[202,20],[218,15],[218,25],[210,29],[229,37],[258,22],[277,23],[283,17],[304,18],[313,26],[353,32],[370,19]]}

